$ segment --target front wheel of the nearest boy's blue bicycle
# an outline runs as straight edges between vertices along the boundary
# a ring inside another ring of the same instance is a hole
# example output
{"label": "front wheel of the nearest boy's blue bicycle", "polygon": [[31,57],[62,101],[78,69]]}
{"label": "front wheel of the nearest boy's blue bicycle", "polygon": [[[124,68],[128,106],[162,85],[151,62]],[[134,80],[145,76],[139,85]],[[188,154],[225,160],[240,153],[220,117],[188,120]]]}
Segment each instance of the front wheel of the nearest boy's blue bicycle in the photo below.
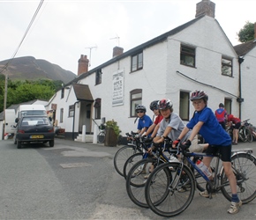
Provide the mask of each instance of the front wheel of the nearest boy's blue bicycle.
{"label": "front wheel of the nearest boy's blue bicycle", "polygon": [[146,201],[159,216],[177,216],[188,208],[195,192],[192,171],[181,163],[165,163],[154,169],[145,187]]}

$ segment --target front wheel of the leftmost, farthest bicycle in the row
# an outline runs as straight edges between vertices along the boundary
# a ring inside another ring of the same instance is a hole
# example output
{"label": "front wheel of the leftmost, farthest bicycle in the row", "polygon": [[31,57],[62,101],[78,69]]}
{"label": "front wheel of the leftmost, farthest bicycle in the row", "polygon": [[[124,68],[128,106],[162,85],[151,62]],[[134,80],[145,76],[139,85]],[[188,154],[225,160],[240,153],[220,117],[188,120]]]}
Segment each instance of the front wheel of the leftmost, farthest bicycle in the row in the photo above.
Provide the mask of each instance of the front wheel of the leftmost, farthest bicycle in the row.
{"label": "front wheel of the leftmost, farthest bicycle in the row", "polygon": [[128,158],[132,156],[132,154],[135,154],[136,152],[141,151],[138,149],[135,145],[127,145],[119,150],[117,150],[117,153],[114,157],[114,167],[118,174],[121,176],[124,176],[124,164]]}

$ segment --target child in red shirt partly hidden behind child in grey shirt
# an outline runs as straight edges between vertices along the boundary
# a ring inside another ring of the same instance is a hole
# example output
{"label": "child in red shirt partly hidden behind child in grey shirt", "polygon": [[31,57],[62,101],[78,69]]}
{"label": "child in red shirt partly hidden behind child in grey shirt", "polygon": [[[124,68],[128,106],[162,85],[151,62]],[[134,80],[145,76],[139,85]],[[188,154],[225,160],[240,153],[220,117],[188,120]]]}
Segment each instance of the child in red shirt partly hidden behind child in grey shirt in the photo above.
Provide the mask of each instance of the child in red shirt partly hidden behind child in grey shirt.
{"label": "child in red shirt partly hidden behind child in grey shirt", "polygon": [[154,100],[153,102],[151,102],[149,107],[151,111],[154,112],[154,116],[156,116],[156,118],[154,120],[154,123],[147,129],[147,132],[144,133],[143,136],[148,136],[150,133],[152,133],[149,138],[153,139],[157,133],[160,122],[162,121],[162,114],[160,114],[160,111],[158,109],[158,100]]}

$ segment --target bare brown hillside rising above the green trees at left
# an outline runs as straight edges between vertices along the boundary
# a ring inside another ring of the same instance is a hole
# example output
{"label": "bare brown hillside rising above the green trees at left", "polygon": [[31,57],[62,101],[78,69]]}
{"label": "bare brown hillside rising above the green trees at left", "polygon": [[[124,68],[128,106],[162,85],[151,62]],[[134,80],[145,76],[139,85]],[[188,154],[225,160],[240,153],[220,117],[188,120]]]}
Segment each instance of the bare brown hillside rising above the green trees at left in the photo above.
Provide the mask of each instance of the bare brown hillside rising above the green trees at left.
{"label": "bare brown hillside rising above the green trees at left", "polygon": [[[2,70],[7,62],[8,60],[0,62],[0,70]],[[60,66],[45,60],[37,60],[33,56],[14,58],[7,70],[8,77],[11,80],[49,78],[52,80],[61,80],[66,84],[77,77],[72,71],[64,70]]]}

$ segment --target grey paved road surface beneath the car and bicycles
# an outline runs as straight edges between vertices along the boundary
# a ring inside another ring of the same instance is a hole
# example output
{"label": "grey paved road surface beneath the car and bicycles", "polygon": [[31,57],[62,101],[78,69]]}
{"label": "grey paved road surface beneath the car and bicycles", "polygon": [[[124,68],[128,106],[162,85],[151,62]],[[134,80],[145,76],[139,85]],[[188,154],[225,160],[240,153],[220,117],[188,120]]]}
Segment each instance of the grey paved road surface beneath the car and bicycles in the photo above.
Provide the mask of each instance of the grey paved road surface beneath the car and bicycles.
{"label": "grey paved road surface beneath the car and bicycles", "polygon": [[[18,150],[0,141],[0,219],[165,219],[133,204],[113,167],[118,147],[56,139],[54,148]],[[252,148],[240,143],[236,148]],[[222,194],[201,198],[172,219],[255,219],[256,200],[231,216]]]}

